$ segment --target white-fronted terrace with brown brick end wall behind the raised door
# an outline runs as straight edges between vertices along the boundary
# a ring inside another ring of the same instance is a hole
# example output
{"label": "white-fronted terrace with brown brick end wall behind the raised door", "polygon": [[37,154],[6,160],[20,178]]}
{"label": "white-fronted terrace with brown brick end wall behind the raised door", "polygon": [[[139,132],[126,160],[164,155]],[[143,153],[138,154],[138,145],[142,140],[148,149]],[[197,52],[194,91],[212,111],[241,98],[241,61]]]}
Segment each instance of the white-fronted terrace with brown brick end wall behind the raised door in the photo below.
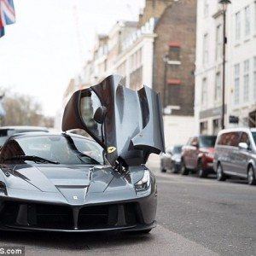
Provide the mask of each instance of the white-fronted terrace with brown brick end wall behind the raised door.
{"label": "white-fronted terrace with brown brick end wall behind the raised door", "polygon": [[84,84],[117,73],[132,90],[160,92],[166,145],[185,143],[195,135],[195,23],[195,0],[146,0],[137,22],[120,20],[97,36]]}

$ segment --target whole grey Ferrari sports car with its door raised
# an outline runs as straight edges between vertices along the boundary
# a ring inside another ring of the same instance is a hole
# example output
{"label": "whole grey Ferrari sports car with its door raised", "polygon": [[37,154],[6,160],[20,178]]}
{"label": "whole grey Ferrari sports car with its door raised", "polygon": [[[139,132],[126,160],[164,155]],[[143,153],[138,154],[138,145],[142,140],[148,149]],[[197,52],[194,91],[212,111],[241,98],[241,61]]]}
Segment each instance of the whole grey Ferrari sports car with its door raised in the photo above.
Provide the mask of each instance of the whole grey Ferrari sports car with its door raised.
{"label": "whole grey Ferrari sports car with its door raised", "polygon": [[[110,76],[76,91],[63,133],[9,137],[0,153],[0,229],[137,231],[155,226],[157,189],[145,166],[165,143],[159,96]],[[68,133],[84,129],[90,137]]]}

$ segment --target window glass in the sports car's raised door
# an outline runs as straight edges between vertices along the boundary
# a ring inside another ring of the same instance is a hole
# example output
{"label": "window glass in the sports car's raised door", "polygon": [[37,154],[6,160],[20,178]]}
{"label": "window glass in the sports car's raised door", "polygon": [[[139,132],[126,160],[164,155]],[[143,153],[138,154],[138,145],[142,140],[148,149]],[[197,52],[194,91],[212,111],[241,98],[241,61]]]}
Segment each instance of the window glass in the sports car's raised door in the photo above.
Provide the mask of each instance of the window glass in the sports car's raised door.
{"label": "window glass in the sports car's raised door", "polygon": [[99,139],[102,139],[101,126],[93,119],[96,109],[101,107],[101,102],[94,91],[87,91],[81,96],[80,113],[87,129]]}

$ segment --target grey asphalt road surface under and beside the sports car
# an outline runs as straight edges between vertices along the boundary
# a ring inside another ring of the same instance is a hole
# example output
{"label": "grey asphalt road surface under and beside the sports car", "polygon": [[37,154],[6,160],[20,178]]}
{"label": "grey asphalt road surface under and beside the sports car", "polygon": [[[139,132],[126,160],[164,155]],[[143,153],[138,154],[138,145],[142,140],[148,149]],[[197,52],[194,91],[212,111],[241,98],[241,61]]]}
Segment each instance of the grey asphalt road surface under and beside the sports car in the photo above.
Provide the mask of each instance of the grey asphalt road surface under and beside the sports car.
{"label": "grey asphalt road surface under and beside the sports car", "polygon": [[256,255],[256,187],[151,168],[158,226],[150,234],[1,232],[0,247],[25,246],[26,255]]}

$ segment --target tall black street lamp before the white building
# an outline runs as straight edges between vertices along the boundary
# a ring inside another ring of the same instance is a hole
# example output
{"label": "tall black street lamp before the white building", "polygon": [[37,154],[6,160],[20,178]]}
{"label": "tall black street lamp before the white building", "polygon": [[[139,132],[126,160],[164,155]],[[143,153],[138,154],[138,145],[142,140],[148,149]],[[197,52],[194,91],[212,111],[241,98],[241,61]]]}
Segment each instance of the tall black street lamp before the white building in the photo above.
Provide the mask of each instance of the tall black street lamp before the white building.
{"label": "tall black street lamp before the white building", "polygon": [[228,8],[228,4],[230,4],[230,0],[220,0],[218,3],[222,5],[223,10],[223,76],[222,76],[222,118],[221,118],[221,128],[224,129],[224,114],[225,114],[225,45],[227,44],[226,38],[226,11]]}

